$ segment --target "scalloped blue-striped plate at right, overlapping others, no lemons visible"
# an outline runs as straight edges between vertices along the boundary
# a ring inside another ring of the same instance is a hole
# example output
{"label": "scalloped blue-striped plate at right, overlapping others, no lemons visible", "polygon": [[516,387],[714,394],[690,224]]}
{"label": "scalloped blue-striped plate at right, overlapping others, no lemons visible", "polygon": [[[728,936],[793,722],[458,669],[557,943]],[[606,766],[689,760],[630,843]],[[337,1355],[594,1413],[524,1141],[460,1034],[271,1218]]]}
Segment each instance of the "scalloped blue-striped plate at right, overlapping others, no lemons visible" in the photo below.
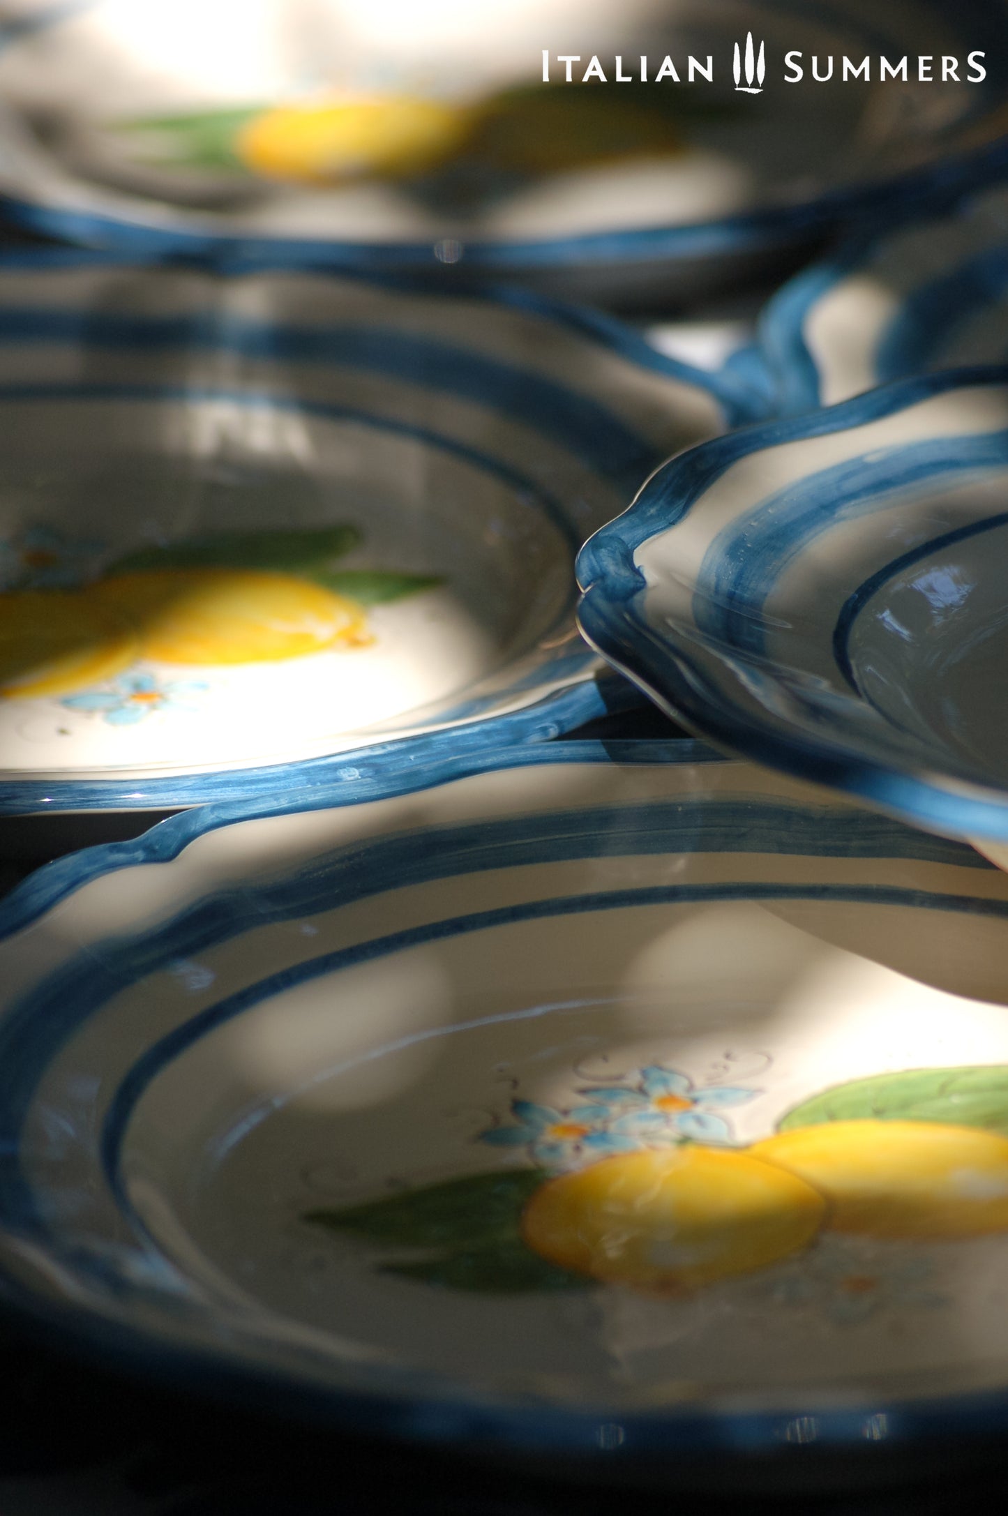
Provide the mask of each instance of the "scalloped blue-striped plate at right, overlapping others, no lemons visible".
{"label": "scalloped blue-striped plate at right, overlapping others, no lemons visible", "polygon": [[694,731],[922,826],[1008,840],[1008,371],[665,464],[581,552],[581,626]]}

